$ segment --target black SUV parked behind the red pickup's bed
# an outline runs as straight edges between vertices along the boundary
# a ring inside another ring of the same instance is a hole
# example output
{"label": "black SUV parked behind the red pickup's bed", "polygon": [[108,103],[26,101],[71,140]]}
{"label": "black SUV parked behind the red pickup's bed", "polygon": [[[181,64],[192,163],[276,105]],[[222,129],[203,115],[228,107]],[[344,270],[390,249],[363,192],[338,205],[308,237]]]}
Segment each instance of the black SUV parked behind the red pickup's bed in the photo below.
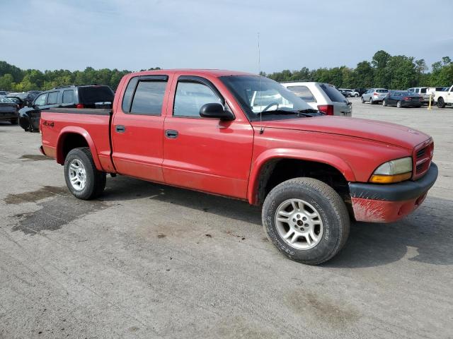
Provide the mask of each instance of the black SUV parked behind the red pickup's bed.
{"label": "black SUV parked behind the red pickup's bed", "polygon": [[69,85],[40,93],[28,107],[19,110],[19,124],[25,131],[39,131],[42,109],[111,108],[113,90],[105,85]]}

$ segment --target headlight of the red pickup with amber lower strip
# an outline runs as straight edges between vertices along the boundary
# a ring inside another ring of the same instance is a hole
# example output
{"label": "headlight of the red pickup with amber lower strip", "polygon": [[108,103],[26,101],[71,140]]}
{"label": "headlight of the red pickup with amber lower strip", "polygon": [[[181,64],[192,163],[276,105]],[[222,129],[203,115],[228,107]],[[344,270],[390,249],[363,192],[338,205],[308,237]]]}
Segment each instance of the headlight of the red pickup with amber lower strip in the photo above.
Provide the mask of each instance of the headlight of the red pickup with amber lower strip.
{"label": "headlight of the red pickup with amber lower strip", "polygon": [[392,184],[411,179],[411,177],[412,157],[402,157],[401,159],[384,162],[384,164],[377,167],[369,182],[374,184]]}

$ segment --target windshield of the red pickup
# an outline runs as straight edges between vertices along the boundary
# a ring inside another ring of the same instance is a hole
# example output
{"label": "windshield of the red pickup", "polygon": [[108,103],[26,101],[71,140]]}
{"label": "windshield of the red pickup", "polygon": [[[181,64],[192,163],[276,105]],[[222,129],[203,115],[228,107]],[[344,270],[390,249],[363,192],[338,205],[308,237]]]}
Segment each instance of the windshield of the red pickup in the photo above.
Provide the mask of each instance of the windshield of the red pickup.
{"label": "windshield of the red pickup", "polygon": [[304,100],[269,78],[221,76],[219,79],[231,91],[251,121],[259,120],[260,113],[263,112],[265,114],[262,119],[265,120],[287,119],[298,112],[314,111]]}

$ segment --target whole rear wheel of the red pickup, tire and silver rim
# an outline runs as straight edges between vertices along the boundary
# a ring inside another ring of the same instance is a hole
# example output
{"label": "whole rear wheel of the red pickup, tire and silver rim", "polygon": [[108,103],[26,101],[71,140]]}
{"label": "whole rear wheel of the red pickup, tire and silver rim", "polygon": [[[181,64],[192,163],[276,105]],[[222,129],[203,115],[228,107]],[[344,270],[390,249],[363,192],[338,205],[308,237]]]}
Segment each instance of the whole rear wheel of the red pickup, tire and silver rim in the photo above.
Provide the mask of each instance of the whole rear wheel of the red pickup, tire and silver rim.
{"label": "whole rear wheel of the red pickup, tire and silver rim", "polygon": [[64,160],[64,179],[69,191],[82,200],[97,198],[105,189],[105,173],[96,169],[88,147],[69,151]]}

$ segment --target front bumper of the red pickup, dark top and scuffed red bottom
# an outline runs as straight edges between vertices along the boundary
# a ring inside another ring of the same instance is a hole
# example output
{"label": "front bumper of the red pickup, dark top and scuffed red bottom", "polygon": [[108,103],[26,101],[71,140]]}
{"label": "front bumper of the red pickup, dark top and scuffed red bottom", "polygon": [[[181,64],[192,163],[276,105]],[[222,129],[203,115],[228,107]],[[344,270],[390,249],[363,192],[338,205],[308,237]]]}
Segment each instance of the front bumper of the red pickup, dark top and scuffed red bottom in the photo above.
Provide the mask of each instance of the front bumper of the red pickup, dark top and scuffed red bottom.
{"label": "front bumper of the red pickup, dark top and scuffed red bottom", "polygon": [[387,185],[351,182],[349,190],[355,220],[393,222],[404,218],[423,203],[437,173],[437,166],[432,162],[428,172],[414,182]]}

